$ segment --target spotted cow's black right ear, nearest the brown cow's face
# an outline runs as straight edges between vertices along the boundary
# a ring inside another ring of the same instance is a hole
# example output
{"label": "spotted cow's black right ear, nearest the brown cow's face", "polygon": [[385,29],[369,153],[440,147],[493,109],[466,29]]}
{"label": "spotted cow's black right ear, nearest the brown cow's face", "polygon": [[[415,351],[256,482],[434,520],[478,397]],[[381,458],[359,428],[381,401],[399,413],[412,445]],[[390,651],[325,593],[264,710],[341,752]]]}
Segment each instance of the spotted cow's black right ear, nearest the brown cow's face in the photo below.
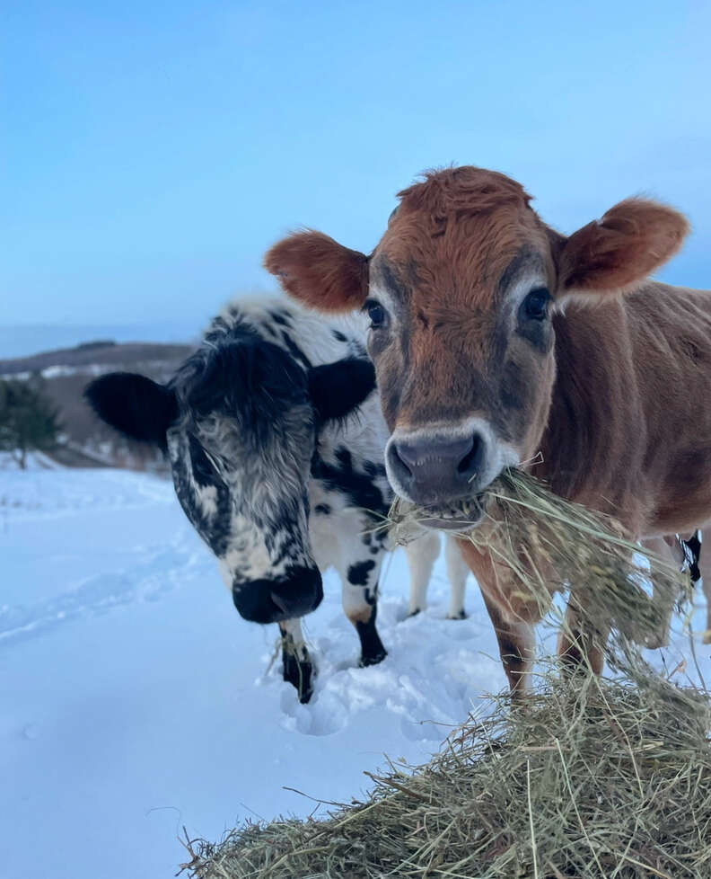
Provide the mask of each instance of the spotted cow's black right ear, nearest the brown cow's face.
{"label": "spotted cow's black right ear, nearest the brown cow's face", "polygon": [[374,389],[375,370],[365,358],[337,360],[309,369],[309,395],[320,422],[345,418]]}

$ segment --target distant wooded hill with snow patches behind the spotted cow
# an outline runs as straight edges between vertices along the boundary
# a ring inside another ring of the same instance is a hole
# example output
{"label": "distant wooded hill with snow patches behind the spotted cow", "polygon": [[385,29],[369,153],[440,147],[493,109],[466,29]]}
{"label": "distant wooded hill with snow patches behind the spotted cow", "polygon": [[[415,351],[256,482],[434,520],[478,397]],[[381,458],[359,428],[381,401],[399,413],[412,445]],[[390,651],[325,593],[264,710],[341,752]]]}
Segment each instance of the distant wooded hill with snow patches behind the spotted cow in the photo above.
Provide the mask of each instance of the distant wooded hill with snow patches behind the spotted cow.
{"label": "distant wooded hill with snow patches behind the spotted cow", "polygon": [[0,377],[31,377],[57,406],[66,443],[66,448],[55,455],[61,463],[105,463],[160,471],[165,469],[161,454],[144,443],[125,440],[100,422],[84,402],[83,389],[92,377],[114,370],[140,372],[155,381],[167,381],[193,350],[187,344],[118,343],[102,339],[30,357],[0,360]]}

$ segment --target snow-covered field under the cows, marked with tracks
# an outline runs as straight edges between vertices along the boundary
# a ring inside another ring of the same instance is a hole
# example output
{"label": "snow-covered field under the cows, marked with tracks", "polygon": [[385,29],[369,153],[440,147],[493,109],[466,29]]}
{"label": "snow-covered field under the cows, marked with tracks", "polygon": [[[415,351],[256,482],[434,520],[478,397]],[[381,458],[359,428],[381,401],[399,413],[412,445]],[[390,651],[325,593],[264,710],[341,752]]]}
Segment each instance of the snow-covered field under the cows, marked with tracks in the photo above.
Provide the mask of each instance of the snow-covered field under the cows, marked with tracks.
{"label": "snow-covered field under the cows, marked with tracks", "polygon": [[[470,617],[444,618],[443,560],[411,619],[404,558],[386,562],[390,655],[370,669],[337,578],[324,585],[302,706],[270,667],[276,626],[238,616],[171,484],[0,469],[0,877],[168,879],[183,825],[217,839],[246,818],[314,811],[288,788],[347,802],[384,754],[427,759],[505,686],[475,584]],[[680,653],[678,633],[654,658],[674,668]],[[709,648],[697,653],[711,678]]]}

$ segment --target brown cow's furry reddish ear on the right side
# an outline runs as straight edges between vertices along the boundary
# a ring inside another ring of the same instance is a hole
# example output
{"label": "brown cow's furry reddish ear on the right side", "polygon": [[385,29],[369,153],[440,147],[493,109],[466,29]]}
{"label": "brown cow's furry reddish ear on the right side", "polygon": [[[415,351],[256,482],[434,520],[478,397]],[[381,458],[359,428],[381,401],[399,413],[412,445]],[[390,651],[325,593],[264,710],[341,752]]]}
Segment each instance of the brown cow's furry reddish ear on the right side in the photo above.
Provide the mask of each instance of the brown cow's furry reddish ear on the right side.
{"label": "brown cow's furry reddish ear on the right side", "polygon": [[676,253],[689,223],[656,201],[627,199],[578,229],[557,256],[559,299],[625,293]]}

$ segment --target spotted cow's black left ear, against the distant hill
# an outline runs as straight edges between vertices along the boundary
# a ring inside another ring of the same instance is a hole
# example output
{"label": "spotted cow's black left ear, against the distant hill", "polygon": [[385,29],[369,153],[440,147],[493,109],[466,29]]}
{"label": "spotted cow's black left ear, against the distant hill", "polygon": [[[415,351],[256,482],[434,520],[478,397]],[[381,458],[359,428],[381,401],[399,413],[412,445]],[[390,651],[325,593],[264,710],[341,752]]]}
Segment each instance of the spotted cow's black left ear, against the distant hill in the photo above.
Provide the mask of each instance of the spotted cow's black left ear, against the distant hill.
{"label": "spotted cow's black left ear, against the distant hill", "polygon": [[101,421],[130,440],[165,448],[165,433],[178,417],[174,391],[134,372],[110,372],[84,388],[84,397]]}

